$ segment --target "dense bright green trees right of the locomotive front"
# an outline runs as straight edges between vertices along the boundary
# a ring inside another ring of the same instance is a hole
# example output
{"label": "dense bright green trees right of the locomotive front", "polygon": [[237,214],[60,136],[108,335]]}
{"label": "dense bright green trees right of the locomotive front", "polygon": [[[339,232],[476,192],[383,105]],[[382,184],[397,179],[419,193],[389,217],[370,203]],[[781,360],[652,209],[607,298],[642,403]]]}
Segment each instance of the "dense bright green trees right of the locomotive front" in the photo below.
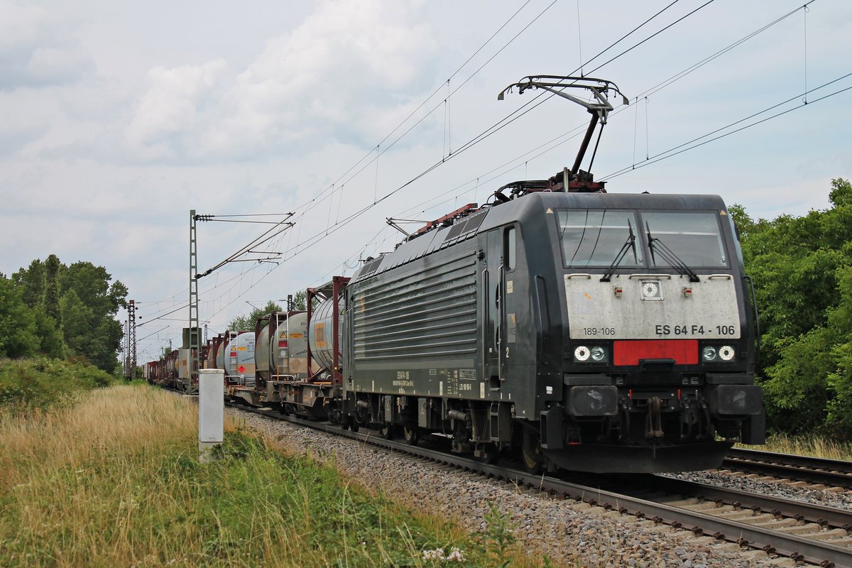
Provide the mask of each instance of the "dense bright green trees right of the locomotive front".
{"label": "dense bright green trees right of the locomotive front", "polygon": [[731,213],[761,308],[760,374],[770,425],[852,433],[852,184],[832,208],[773,221]]}

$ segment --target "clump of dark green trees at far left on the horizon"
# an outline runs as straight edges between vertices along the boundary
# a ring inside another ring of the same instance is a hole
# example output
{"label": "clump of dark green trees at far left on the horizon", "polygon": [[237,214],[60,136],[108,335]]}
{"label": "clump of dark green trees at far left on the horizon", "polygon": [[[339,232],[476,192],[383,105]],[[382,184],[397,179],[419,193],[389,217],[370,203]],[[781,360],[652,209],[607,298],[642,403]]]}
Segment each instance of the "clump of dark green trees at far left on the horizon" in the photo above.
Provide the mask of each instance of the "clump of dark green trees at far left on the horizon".
{"label": "clump of dark green trees at far left on the horizon", "polygon": [[112,372],[123,330],[115,320],[126,307],[127,288],[91,262],[65,266],[56,255],[32,261],[12,275],[29,308],[20,317],[34,325],[35,350],[49,357],[83,357]]}

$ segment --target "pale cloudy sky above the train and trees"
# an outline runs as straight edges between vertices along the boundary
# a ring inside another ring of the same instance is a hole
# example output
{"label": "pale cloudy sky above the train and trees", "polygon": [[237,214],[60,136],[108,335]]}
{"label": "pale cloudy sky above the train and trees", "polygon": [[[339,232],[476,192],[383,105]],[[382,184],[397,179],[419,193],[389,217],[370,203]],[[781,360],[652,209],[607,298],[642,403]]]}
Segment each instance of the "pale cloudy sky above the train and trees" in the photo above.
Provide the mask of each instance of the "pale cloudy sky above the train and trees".
{"label": "pale cloudy sky above the train and trees", "polygon": [[389,217],[570,167],[581,106],[497,99],[538,74],[629,99],[592,168],[608,192],[804,215],[852,176],[850,53],[840,0],[0,0],[0,273],[50,254],[106,267],[156,359],[187,325],[191,209],[293,213],[285,231],[199,222],[199,272],[278,233],[199,280],[214,335],[393,250]]}

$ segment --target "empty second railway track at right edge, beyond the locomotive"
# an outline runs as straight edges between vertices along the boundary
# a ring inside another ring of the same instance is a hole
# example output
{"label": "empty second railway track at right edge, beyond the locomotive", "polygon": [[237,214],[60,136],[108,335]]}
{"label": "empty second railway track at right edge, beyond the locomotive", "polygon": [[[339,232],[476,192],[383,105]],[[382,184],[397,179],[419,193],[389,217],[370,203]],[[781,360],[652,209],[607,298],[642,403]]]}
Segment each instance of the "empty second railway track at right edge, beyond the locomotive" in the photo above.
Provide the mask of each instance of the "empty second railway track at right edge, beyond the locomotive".
{"label": "empty second railway track at right edge, beyond the locomotive", "polygon": [[720,469],[766,475],[775,479],[791,479],[811,485],[852,489],[852,462],[843,460],[732,449]]}

